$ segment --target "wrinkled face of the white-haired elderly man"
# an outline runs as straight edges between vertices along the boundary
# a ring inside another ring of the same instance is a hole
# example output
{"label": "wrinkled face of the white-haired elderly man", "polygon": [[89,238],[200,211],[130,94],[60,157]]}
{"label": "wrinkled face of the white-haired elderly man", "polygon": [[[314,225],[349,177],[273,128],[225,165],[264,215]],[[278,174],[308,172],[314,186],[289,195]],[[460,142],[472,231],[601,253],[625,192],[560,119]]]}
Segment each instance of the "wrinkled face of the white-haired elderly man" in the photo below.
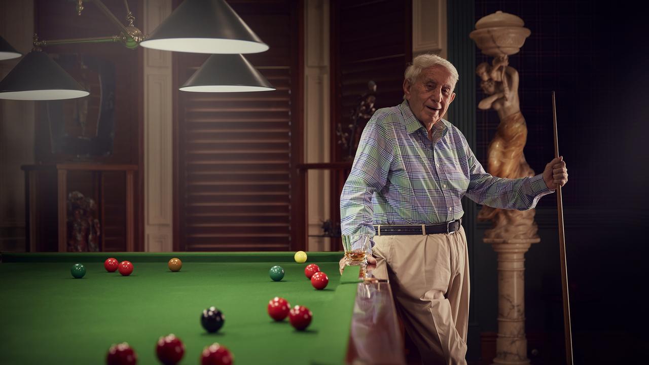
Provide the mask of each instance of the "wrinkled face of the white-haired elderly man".
{"label": "wrinkled face of the white-haired elderly man", "polygon": [[404,81],[404,94],[410,109],[426,126],[441,120],[455,99],[451,77],[448,69],[436,65],[422,69],[415,84],[407,79]]}

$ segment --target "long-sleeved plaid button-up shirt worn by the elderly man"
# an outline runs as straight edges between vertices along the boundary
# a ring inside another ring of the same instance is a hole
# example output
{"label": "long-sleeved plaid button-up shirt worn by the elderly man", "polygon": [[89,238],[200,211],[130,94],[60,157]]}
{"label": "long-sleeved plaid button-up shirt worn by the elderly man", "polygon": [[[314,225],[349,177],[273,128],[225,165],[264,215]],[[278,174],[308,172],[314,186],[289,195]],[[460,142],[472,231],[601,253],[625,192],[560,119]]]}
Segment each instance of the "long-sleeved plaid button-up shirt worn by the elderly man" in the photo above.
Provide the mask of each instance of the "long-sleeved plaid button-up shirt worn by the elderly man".
{"label": "long-sleeved plaid button-up shirt worn by the elderly man", "polygon": [[527,210],[551,192],[543,175],[489,175],[463,134],[446,120],[434,124],[429,140],[404,101],[376,110],[363,130],[340,196],[341,229],[374,236],[374,224],[456,220],[464,214],[464,195],[489,207]]}

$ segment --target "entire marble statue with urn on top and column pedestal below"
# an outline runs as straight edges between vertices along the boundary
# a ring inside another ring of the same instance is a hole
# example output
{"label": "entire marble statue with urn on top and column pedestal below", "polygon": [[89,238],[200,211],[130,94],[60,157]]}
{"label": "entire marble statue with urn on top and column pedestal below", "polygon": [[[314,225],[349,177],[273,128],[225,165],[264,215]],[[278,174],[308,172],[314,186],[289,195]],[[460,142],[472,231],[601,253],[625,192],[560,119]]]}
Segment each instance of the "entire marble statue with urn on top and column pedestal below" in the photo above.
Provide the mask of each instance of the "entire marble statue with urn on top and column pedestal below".
{"label": "entire marble statue with urn on top and column pedestal below", "polygon": [[[520,112],[519,73],[509,66],[509,56],[520,51],[530,30],[518,16],[502,11],[476,22],[469,35],[485,55],[494,57],[476,68],[485,94],[478,103],[482,110],[495,110],[500,119],[489,144],[487,172],[496,177],[532,177],[525,160],[527,140],[525,118]],[[535,211],[504,210],[484,206],[478,220],[491,221],[484,242],[498,253],[498,338],[493,364],[530,364],[525,336],[524,263],[530,246],[540,241]]]}

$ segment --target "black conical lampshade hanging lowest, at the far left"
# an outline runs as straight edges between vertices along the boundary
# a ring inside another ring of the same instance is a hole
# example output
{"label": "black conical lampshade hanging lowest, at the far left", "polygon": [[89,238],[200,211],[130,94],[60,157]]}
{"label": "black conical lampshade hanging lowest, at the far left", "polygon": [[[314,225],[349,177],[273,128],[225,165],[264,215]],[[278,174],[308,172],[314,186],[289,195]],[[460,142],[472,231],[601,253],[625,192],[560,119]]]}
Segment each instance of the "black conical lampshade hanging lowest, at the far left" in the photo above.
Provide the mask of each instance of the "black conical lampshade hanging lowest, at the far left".
{"label": "black conical lampshade hanging lowest, at the far left", "polygon": [[0,81],[0,99],[60,100],[88,94],[66,70],[40,51],[28,53]]}

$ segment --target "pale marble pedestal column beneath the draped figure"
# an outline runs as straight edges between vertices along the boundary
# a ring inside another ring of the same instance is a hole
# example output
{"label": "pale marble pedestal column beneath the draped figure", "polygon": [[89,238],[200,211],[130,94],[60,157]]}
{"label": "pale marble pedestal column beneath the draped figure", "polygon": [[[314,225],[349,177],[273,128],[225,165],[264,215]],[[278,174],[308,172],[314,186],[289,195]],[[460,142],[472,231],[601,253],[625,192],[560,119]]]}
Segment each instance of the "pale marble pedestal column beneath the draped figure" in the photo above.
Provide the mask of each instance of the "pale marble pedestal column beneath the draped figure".
{"label": "pale marble pedestal column beneath the draped figure", "polygon": [[493,364],[530,364],[525,338],[525,253],[541,238],[484,238],[498,253],[498,338]]}

